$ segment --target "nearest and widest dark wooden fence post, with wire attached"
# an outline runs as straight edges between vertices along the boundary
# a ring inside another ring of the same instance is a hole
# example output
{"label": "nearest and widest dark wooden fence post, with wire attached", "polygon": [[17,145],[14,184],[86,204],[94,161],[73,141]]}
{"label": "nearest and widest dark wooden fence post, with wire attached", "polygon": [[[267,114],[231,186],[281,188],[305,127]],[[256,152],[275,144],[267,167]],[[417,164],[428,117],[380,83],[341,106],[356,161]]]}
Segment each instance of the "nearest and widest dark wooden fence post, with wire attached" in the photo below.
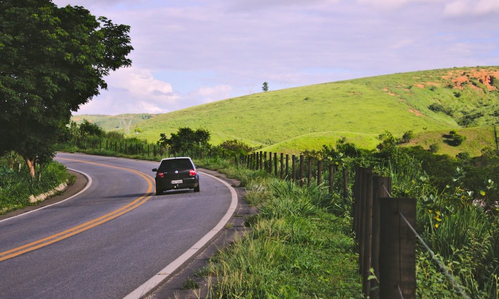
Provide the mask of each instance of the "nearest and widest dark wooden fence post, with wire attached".
{"label": "nearest and widest dark wooden fence post, with wire attached", "polygon": [[[416,298],[416,199],[380,198],[380,298]],[[400,291],[399,291],[400,289]]]}

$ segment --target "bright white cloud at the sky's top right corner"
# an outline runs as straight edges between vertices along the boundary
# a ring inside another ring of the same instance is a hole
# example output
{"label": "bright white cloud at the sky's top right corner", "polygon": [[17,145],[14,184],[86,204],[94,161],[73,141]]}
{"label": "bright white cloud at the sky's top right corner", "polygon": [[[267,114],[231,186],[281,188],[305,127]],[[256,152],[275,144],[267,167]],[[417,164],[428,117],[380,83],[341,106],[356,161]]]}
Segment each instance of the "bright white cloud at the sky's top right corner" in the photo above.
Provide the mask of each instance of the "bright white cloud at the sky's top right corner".
{"label": "bright white cloud at the sky's top right corner", "polygon": [[498,14],[499,0],[457,0],[447,3],[443,12],[444,16],[481,16]]}

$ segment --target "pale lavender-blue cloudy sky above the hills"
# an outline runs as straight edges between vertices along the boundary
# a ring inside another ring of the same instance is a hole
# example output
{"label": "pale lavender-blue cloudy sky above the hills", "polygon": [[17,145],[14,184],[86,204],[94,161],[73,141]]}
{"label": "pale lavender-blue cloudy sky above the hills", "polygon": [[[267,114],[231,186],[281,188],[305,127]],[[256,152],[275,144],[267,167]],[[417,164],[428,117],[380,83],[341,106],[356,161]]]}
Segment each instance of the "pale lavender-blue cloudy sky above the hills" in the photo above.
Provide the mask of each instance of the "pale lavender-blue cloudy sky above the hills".
{"label": "pale lavender-blue cloudy sky above the hills", "polygon": [[131,26],[132,67],[75,114],[167,113],[269,90],[499,65],[499,0],[53,0]]}

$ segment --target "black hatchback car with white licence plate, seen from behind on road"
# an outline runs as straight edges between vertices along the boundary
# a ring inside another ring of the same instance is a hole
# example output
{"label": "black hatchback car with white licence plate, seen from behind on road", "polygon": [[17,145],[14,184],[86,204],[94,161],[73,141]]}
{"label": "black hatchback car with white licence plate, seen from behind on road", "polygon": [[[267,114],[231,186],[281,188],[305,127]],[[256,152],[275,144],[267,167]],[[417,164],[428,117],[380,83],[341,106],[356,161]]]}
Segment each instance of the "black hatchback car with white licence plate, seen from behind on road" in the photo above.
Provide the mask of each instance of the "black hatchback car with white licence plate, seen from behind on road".
{"label": "black hatchback car with white licence plate, seen from behind on road", "polygon": [[156,172],[156,195],[173,189],[194,189],[199,192],[199,173],[190,157],[161,160]]}

